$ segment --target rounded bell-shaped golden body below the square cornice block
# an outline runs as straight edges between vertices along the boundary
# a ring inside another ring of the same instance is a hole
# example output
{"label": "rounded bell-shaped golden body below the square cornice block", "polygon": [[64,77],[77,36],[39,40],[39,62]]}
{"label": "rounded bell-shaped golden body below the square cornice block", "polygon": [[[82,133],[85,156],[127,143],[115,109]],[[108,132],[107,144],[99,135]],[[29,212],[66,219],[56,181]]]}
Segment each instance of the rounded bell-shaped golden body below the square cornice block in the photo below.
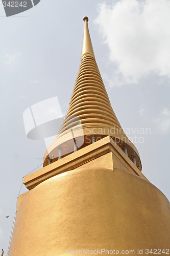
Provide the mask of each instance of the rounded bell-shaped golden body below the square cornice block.
{"label": "rounded bell-shaped golden body below the square cornice block", "polygon": [[[168,248],[170,205],[147,180],[78,168],[45,180],[18,207],[9,256]],[[103,253],[103,255],[106,255]]]}

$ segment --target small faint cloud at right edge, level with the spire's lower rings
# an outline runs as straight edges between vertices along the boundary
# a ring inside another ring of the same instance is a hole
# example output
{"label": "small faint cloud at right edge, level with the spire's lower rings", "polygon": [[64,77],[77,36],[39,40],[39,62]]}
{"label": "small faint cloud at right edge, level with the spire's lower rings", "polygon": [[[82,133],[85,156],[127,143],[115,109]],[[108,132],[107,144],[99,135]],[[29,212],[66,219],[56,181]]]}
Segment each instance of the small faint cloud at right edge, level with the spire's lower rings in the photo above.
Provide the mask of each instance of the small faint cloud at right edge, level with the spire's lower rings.
{"label": "small faint cloud at right edge, level with the spire's lower rings", "polygon": [[159,132],[163,134],[170,132],[170,110],[164,108],[159,116],[154,120],[154,123],[157,124]]}

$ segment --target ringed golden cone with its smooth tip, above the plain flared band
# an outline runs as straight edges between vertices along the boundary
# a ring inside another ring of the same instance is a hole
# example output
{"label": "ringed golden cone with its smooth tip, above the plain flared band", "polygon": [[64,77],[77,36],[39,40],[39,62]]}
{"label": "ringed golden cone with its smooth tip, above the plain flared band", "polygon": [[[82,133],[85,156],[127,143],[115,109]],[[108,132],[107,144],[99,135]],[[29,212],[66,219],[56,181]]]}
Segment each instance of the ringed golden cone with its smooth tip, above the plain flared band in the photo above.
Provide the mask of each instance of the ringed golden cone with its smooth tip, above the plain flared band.
{"label": "ringed golden cone with its smooth tip, above the plain flared band", "polygon": [[[122,133],[122,127],[113,112],[98,65],[95,61],[88,29],[88,17],[84,17],[83,20],[85,24],[82,59],[66,115],[66,123],[67,125],[71,125],[71,120],[68,121],[67,119],[70,115],[74,115],[80,117],[83,127],[116,127]],[[67,126],[63,123],[59,135],[66,130]]]}

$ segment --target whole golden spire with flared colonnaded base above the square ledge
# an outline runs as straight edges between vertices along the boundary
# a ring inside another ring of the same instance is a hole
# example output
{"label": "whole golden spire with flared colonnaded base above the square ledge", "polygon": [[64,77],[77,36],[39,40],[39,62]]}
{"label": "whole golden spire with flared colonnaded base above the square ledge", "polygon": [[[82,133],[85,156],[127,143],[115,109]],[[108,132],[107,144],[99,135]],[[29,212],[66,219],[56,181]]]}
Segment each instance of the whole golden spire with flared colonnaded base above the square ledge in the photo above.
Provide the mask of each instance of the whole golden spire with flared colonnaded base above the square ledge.
{"label": "whole golden spire with flared colonnaded base above the square ledge", "polygon": [[[75,144],[76,150],[78,150],[109,135],[122,150],[126,148],[124,152],[130,155],[131,160],[134,159],[135,164],[141,169],[138,151],[127,138],[111,107],[94,57],[88,30],[88,17],[84,17],[83,20],[82,58],[74,91],[59,134],[45,154],[44,166],[60,159],[59,149],[60,155],[62,154],[63,157],[75,151]],[[77,118],[80,119],[80,122]],[[74,133],[72,130],[74,130]],[[83,143],[80,142],[82,137]],[[79,141],[79,145],[77,145],[77,141]],[[51,160],[49,161],[49,159]]]}

